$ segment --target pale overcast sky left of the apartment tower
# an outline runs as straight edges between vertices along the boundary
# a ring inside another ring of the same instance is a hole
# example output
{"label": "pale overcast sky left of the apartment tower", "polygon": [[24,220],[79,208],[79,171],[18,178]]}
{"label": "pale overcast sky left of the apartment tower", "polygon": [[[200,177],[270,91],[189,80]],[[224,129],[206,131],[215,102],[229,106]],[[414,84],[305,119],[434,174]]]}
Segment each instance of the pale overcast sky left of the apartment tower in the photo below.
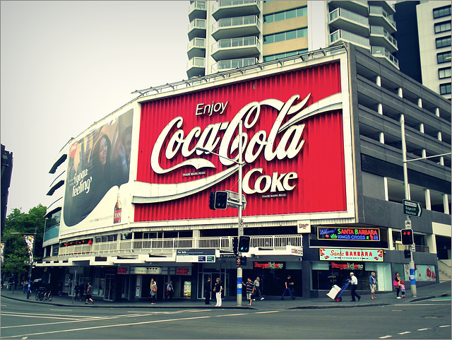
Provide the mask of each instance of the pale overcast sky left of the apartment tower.
{"label": "pale overcast sky left of the apartment tower", "polygon": [[1,1],[7,214],[52,204],[60,149],[133,90],[187,78],[188,11],[189,1]]}

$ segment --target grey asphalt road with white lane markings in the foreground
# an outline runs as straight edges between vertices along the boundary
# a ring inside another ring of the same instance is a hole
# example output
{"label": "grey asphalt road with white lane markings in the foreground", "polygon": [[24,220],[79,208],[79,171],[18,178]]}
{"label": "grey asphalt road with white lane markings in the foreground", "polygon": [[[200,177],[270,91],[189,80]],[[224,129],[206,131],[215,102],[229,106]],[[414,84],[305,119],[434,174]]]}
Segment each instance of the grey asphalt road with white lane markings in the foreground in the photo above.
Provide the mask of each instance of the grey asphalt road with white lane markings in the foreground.
{"label": "grey asphalt road with white lane markings in the foreground", "polygon": [[1,300],[1,339],[451,339],[451,297],[323,309],[60,307]]}

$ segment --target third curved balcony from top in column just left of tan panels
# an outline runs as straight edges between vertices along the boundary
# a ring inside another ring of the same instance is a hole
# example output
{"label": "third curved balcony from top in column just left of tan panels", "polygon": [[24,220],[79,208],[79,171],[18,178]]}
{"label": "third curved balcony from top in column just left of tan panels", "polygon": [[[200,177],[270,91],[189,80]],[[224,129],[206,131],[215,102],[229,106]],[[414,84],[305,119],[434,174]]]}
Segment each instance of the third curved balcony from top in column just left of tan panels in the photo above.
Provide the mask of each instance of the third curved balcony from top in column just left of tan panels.
{"label": "third curved balcony from top in column just left of tan panels", "polygon": [[261,53],[261,42],[257,37],[234,37],[222,39],[212,46],[212,57],[215,61],[233,57],[251,57]]}

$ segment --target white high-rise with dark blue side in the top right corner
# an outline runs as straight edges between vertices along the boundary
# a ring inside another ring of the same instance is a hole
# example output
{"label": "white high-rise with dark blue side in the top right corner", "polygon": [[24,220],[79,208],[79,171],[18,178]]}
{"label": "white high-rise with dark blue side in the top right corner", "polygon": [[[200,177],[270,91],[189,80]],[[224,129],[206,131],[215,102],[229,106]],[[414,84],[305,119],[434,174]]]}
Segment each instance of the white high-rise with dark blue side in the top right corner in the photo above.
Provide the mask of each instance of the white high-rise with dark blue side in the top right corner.
{"label": "white high-rise with dark blue side in the top right corner", "polygon": [[451,99],[451,1],[400,1],[395,6],[400,71]]}

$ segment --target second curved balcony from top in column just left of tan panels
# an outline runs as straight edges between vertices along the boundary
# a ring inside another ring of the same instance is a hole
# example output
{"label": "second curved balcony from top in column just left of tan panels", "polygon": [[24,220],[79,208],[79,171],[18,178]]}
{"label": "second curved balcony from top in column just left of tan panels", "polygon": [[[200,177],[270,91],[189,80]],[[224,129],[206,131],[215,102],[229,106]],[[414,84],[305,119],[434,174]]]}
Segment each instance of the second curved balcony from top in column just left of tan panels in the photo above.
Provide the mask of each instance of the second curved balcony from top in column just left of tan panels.
{"label": "second curved balcony from top in column just left of tan panels", "polygon": [[212,25],[212,36],[215,40],[230,37],[246,37],[261,32],[261,22],[257,16],[239,16],[224,18]]}

